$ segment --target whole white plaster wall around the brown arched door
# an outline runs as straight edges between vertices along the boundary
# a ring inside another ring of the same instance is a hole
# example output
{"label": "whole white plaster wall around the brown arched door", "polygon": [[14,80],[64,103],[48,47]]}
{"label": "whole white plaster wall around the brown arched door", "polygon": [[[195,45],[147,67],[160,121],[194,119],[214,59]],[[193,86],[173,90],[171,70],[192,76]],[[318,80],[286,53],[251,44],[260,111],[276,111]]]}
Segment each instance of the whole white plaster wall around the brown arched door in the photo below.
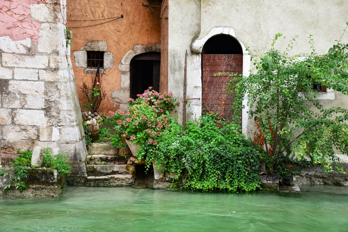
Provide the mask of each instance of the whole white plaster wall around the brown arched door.
{"label": "whole white plaster wall around the brown arched door", "polygon": [[[168,89],[175,96],[182,98],[184,53],[185,49],[188,49],[188,97],[192,97],[190,94],[195,89],[193,83],[199,75],[198,67],[192,69],[193,57],[200,56],[191,55],[190,49],[199,53],[197,47],[191,46],[193,39],[203,40],[209,32],[220,28],[226,30],[226,33],[222,33],[230,34],[227,28],[231,28],[234,33],[232,36],[245,45],[244,47],[248,44],[265,52],[270,49],[276,33],[283,34],[275,45],[280,51],[284,51],[289,41],[298,34],[299,37],[289,52],[289,55],[294,55],[312,51],[308,36],[313,34],[316,52],[322,54],[341,37],[346,27],[345,22],[348,21],[347,9],[348,1],[340,0],[292,0],[281,3],[272,0],[169,0]],[[197,38],[194,38],[197,33]],[[342,42],[348,42],[348,33]],[[245,55],[247,52],[244,52],[244,57]],[[247,60],[243,59],[243,75],[247,75],[251,68],[251,62],[247,63]],[[322,94],[319,99],[324,106],[348,107],[347,96],[334,93],[332,90]],[[197,107],[196,110],[200,111],[201,107]],[[243,133],[247,133],[254,124],[253,120],[247,120],[246,110],[243,112]],[[181,115],[178,111],[176,117],[179,121]]]}

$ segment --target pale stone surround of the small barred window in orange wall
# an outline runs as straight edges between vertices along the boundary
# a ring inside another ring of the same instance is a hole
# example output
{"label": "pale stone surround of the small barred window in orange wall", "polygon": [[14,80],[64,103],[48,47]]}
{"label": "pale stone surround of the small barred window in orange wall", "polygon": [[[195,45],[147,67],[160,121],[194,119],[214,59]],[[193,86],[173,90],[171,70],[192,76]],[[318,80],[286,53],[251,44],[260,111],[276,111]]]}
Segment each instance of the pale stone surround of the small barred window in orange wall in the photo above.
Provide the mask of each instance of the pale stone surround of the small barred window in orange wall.
{"label": "pale stone surround of the small barred window in orange wall", "polygon": [[104,69],[100,69],[104,74],[106,73],[106,69],[110,69],[114,65],[113,54],[106,51],[108,49],[108,45],[106,41],[90,41],[85,46],[81,47],[80,51],[74,51],[72,54],[74,55],[74,61],[76,67],[82,67],[84,69],[84,73],[92,73],[95,74],[97,69],[89,69],[87,68],[87,51],[104,51]]}

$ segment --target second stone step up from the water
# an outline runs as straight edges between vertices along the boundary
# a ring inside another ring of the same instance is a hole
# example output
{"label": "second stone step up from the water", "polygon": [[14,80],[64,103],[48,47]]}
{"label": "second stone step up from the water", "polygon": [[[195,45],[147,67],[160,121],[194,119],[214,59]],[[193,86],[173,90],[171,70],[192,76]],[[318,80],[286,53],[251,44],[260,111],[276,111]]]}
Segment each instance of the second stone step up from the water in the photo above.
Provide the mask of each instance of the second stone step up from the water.
{"label": "second stone step up from the water", "polygon": [[87,176],[107,176],[115,174],[134,174],[134,165],[86,165]]}

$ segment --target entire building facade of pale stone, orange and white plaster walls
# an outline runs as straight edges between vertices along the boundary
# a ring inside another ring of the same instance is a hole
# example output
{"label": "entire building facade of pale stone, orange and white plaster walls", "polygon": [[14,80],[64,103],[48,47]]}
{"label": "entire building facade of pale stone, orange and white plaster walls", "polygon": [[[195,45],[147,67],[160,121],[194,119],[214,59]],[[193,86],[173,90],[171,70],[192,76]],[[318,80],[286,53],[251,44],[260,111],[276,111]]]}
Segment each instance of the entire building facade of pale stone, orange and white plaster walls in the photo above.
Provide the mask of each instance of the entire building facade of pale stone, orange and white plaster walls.
{"label": "entire building facade of pale stone, orange and white plaster walls", "polygon": [[[282,33],[276,49],[283,51],[298,35],[289,55],[305,56],[311,52],[308,36],[313,34],[316,52],[322,54],[341,37],[348,21],[348,2],[340,0],[281,4],[271,0],[12,0],[11,6],[9,2],[0,0],[1,20],[5,19],[0,22],[1,152],[38,145],[67,152],[73,165],[68,184],[86,179],[79,89],[95,73],[87,65],[88,52],[103,52],[107,96],[99,113],[107,114],[127,108],[132,62],[144,59],[142,54],[149,54],[146,59],[151,60],[151,54],[160,53],[159,90],[171,91],[182,100],[187,50],[187,98],[199,98],[190,101],[192,117],[198,118],[205,94],[202,61],[212,38],[224,35],[236,42],[243,57],[239,71],[247,76],[253,68],[247,46],[266,52],[273,36]],[[66,28],[73,32],[71,47]],[[348,35],[341,41],[347,43]],[[326,107],[348,108],[347,96],[331,89],[320,93],[319,99]],[[179,123],[181,109],[174,112]],[[254,126],[247,110],[242,112],[245,134]]]}

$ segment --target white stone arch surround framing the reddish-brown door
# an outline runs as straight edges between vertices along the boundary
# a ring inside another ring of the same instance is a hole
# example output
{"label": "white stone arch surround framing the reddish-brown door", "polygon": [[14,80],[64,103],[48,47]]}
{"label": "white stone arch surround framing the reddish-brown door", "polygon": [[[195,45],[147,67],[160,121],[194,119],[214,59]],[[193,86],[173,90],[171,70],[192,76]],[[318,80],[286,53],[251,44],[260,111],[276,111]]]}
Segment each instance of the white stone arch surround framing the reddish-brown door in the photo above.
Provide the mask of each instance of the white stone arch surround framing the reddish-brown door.
{"label": "white stone arch surround framing the reddish-brown door", "polygon": [[[242,73],[243,73],[243,76],[245,76],[245,77],[247,77],[249,75],[249,70],[251,68],[250,55],[245,50],[245,46],[243,45],[243,43],[241,43],[237,39],[235,30],[232,27],[223,27],[223,26],[222,27],[214,27],[213,29],[211,29],[209,31],[208,34],[204,35],[203,38],[197,39],[199,37],[199,34],[198,34],[198,35],[196,35],[196,38],[194,38],[192,41],[191,48],[190,48],[192,56],[196,56],[195,60],[199,61],[199,62],[193,63],[195,65],[195,67],[193,67],[193,70],[195,71],[195,75],[194,75],[195,82],[197,82],[198,79],[201,80],[201,77],[202,77],[201,53],[202,53],[203,46],[210,38],[214,37],[215,35],[219,35],[219,34],[229,35],[229,36],[235,38],[239,42],[239,45],[242,47],[242,50],[243,50],[243,71],[242,71]],[[194,87],[194,88],[196,88],[196,91],[197,91],[197,87],[198,86]],[[202,93],[201,86],[200,86],[200,93]],[[195,96],[195,97],[197,97],[197,96]],[[247,106],[247,98],[246,97],[244,98],[242,104],[245,105],[245,108],[242,109],[242,132],[244,134],[246,134],[247,133],[247,122],[248,122],[247,111],[249,110],[249,107]],[[200,106],[200,111],[201,110],[202,109]]]}

